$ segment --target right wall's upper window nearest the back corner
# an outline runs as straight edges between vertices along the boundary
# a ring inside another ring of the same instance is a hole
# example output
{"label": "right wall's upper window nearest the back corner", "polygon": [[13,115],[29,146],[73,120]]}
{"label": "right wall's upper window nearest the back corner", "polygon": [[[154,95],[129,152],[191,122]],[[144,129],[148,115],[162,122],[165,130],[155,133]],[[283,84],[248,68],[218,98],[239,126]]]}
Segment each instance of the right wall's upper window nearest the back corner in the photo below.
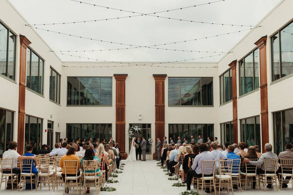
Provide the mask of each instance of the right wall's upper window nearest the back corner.
{"label": "right wall's upper window nearest the back corner", "polygon": [[220,76],[220,104],[232,100],[232,70],[229,69]]}

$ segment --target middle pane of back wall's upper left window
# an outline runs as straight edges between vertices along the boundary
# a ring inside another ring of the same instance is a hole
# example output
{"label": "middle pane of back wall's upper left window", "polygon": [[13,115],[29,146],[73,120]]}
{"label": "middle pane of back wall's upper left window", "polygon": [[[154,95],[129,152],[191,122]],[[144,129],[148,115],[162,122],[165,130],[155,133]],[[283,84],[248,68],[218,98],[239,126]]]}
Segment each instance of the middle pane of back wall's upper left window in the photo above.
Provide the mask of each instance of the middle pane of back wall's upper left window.
{"label": "middle pane of back wall's upper left window", "polygon": [[99,77],[80,77],[80,105],[100,105]]}

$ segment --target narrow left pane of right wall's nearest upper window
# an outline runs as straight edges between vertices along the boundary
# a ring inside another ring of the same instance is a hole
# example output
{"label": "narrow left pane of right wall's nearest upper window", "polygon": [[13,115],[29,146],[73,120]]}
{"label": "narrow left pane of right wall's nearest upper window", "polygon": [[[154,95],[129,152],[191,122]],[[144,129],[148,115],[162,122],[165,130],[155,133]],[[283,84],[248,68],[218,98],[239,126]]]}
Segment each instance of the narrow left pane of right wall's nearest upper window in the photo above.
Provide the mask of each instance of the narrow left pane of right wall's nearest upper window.
{"label": "narrow left pane of right wall's nearest upper window", "polygon": [[280,46],[279,34],[272,37],[273,42],[273,81],[280,79]]}

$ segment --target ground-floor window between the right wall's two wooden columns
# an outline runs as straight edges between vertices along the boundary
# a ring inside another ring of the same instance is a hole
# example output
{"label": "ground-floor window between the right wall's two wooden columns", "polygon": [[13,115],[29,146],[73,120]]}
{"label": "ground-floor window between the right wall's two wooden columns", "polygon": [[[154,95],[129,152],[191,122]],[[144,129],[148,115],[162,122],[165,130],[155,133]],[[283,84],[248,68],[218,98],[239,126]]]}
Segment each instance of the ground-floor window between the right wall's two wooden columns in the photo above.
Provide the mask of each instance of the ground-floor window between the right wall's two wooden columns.
{"label": "ground-floor window between the right wall's two wooden columns", "polygon": [[[260,119],[259,116],[240,120],[241,141],[249,146],[260,146]],[[259,147],[261,150],[261,147]]]}

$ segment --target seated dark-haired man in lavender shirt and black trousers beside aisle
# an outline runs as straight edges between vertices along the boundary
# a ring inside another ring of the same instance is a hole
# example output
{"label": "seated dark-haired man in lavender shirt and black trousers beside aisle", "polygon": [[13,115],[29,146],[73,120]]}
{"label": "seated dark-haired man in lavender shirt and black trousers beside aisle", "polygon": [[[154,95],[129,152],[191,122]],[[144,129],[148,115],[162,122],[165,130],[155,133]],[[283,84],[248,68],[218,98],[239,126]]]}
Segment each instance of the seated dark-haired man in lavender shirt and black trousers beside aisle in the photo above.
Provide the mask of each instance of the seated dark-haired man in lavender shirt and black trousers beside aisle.
{"label": "seated dark-haired man in lavender shirt and black trousers beside aisle", "polygon": [[[208,153],[208,147],[207,144],[200,144],[199,149],[201,151],[201,154],[198,154],[194,158],[194,163],[191,166],[191,169],[187,171],[187,190],[190,190],[191,185],[191,179],[193,177],[201,178],[202,177],[202,167],[201,167],[201,161],[214,161],[215,158],[211,153]],[[204,175],[205,177],[211,177],[213,176],[212,172],[211,174]],[[205,190],[206,193],[210,193],[209,187]]]}

